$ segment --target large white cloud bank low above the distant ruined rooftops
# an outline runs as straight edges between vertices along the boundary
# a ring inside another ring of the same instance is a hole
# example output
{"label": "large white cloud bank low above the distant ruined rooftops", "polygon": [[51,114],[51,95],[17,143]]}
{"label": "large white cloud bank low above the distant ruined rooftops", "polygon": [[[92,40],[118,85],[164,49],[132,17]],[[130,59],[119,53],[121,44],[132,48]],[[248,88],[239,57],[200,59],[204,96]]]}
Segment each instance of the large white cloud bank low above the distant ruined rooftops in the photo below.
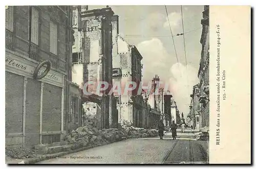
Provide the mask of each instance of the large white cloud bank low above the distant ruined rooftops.
{"label": "large white cloud bank low above the distant ruined rooftops", "polygon": [[177,63],[176,57],[168,54],[161,40],[153,38],[137,45],[142,55],[143,84],[151,82],[155,75],[160,81],[169,83],[169,90],[177,102],[180,112],[189,112],[190,94],[198,83],[198,70],[191,65]]}

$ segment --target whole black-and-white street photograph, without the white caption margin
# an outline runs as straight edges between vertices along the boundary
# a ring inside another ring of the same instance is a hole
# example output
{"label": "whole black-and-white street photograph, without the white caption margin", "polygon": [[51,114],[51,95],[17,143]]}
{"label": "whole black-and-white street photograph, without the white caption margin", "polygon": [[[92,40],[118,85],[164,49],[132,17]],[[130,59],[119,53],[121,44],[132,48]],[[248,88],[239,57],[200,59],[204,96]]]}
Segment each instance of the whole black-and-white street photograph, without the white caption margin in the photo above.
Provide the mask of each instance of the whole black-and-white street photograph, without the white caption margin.
{"label": "whole black-and-white street photograph, without the white caption margin", "polygon": [[209,163],[209,6],[5,14],[7,164]]}

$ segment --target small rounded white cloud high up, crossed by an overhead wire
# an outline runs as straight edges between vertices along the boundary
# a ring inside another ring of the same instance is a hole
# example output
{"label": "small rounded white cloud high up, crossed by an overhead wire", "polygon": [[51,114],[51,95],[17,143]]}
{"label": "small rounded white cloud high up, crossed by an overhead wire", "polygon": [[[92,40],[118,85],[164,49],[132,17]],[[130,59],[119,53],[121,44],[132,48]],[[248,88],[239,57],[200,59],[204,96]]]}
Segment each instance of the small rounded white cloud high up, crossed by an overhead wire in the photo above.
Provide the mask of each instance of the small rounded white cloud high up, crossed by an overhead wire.
{"label": "small rounded white cloud high up, crossed by an overhead wire", "polygon": [[[172,29],[177,28],[181,25],[181,14],[177,12],[172,12],[168,15],[169,21],[170,21],[170,27]],[[166,17],[166,21],[163,23],[163,27],[165,29],[169,29],[169,22],[168,18]]]}

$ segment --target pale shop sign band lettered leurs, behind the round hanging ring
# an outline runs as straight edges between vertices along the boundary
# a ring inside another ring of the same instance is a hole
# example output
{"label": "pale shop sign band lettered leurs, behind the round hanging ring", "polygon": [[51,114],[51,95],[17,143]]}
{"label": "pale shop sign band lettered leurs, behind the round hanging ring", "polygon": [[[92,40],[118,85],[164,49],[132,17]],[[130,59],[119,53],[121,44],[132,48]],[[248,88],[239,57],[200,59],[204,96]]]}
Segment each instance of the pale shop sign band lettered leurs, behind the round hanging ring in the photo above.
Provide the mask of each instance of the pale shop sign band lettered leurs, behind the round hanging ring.
{"label": "pale shop sign band lettered leurs, behind the round hanging ring", "polygon": [[[29,73],[30,75],[33,74],[35,70],[35,67],[33,66],[27,65],[25,63],[21,63],[17,60],[14,60],[8,57],[5,57],[5,64],[6,66],[10,66],[18,70],[23,70],[26,73]],[[42,67],[39,70],[38,75],[41,75],[42,73],[44,73],[45,69],[46,69],[45,67]],[[56,74],[53,74],[51,71],[49,71],[49,73],[43,79],[49,79],[58,83],[62,83],[61,78],[59,78]]]}

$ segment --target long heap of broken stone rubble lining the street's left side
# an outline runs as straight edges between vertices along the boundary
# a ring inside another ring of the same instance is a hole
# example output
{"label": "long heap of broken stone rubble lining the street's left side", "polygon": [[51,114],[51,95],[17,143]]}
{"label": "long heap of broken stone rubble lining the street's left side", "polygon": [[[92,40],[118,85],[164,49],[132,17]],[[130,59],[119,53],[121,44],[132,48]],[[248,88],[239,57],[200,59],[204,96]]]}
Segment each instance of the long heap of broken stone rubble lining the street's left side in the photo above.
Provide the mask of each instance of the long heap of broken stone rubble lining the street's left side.
{"label": "long heap of broken stone rubble lining the street's left side", "polygon": [[135,127],[110,128],[98,130],[92,125],[78,127],[70,134],[65,136],[65,141],[71,146],[71,149],[78,149],[88,146],[100,146],[105,143],[120,141],[127,138],[145,138],[155,137],[158,131],[155,129],[144,129]]}

